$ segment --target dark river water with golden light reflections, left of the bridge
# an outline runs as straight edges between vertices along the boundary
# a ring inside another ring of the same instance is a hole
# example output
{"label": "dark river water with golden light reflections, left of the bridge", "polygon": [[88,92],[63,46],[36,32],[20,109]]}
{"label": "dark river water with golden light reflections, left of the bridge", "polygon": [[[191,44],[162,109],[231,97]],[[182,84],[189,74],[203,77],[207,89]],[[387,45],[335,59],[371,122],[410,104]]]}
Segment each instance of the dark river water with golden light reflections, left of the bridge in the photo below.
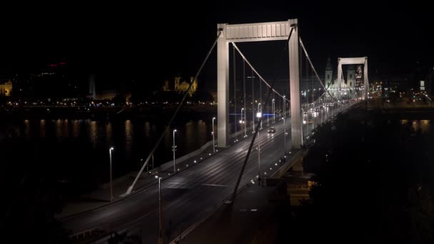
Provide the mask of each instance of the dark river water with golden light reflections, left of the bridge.
{"label": "dark river water with golden light reflections, left of the bridge", "polygon": [[[154,153],[155,166],[171,161],[173,129],[176,158],[212,140],[213,113],[180,113]],[[19,181],[24,176],[69,185],[82,193],[109,178],[109,148],[113,146],[113,177],[138,171],[167,119],[155,118],[6,118],[0,122],[3,172]],[[216,126],[216,121],[215,121]]]}

